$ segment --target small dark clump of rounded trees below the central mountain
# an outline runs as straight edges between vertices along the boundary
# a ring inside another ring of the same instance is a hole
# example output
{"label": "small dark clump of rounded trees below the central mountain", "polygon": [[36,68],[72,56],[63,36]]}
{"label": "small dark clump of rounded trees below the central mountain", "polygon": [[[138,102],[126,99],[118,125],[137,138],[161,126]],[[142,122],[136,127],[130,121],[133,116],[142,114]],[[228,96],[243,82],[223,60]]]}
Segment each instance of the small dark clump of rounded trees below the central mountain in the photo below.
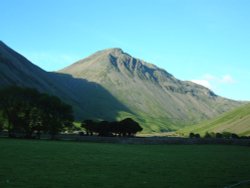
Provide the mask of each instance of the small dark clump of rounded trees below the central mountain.
{"label": "small dark clump of rounded trees below the central mountain", "polygon": [[81,126],[86,130],[87,135],[96,133],[99,136],[134,136],[137,132],[142,131],[139,123],[131,118],[113,122],[85,120]]}

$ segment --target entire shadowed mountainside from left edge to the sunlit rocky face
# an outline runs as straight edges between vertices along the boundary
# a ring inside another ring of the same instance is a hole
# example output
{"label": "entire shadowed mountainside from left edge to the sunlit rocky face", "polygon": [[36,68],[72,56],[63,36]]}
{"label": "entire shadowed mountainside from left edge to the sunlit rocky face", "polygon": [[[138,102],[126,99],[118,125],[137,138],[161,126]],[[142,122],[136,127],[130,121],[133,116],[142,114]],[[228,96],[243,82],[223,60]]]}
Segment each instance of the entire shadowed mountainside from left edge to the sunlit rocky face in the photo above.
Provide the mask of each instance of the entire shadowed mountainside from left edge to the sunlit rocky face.
{"label": "entire shadowed mountainside from left edge to the sunlit rocky face", "polygon": [[77,120],[114,119],[119,111],[130,113],[101,85],[66,74],[46,72],[0,41],[0,88],[13,85],[36,88],[60,97],[73,106]]}

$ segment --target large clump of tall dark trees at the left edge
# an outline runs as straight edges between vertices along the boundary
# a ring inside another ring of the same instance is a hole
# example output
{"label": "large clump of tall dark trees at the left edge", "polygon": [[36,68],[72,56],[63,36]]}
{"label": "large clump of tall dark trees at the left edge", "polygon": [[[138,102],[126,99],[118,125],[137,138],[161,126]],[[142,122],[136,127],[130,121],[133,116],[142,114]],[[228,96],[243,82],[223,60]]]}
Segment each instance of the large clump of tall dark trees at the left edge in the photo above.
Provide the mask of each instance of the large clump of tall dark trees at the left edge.
{"label": "large clump of tall dark trees at the left edge", "polygon": [[37,133],[49,133],[52,138],[73,126],[72,107],[58,97],[39,93],[35,89],[10,87],[0,91],[0,129],[9,136],[21,134],[31,138]]}

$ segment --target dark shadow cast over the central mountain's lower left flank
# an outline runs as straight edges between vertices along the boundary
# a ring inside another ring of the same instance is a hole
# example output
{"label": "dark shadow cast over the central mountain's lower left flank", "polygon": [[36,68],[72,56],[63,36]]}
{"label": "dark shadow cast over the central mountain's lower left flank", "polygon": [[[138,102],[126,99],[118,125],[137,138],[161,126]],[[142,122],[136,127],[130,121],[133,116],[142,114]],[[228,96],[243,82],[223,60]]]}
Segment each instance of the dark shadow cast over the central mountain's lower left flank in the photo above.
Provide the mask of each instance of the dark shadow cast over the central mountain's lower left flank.
{"label": "dark shadow cast over the central mountain's lower left flank", "polygon": [[123,111],[133,114],[119,102],[104,87],[85,79],[74,78],[69,74],[50,73],[56,84],[57,96],[71,104],[75,118],[115,120],[118,113]]}

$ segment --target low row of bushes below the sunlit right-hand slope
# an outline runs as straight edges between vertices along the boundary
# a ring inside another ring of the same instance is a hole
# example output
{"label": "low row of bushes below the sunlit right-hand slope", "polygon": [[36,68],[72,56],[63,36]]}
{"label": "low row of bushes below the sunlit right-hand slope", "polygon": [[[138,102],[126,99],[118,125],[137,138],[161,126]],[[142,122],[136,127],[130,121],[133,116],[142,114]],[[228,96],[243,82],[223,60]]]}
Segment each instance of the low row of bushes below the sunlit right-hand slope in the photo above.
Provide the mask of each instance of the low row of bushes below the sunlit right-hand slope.
{"label": "low row of bushes below the sunlit right-hand slope", "polygon": [[[198,133],[190,133],[189,138],[201,138],[200,134]],[[230,132],[222,132],[222,133],[214,133],[214,132],[206,132],[203,138],[226,138],[226,139],[240,139],[240,138],[249,138],[245,136],[239,136],[235,133],[230,133]]]}

